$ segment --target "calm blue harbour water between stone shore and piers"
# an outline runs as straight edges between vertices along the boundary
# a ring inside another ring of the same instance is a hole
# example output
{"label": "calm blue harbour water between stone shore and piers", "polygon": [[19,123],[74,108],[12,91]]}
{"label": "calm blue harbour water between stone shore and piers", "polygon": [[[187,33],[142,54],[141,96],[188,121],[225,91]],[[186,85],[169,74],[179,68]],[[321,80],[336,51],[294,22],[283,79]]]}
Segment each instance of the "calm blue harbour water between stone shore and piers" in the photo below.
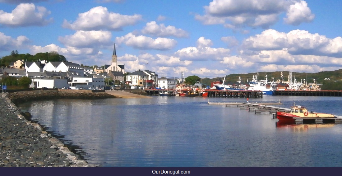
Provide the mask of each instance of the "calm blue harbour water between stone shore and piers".
{"label": "calm blue harbour water between stone shore and piers", "polygon": [[[264,96],[342,116],[341,97]],[[209,98],[210,102],[243,102]],[[103,167],[342,166],[342,124],[276,126],[268,113],[208,105],[208,98],[51,100],[19,105]]]}

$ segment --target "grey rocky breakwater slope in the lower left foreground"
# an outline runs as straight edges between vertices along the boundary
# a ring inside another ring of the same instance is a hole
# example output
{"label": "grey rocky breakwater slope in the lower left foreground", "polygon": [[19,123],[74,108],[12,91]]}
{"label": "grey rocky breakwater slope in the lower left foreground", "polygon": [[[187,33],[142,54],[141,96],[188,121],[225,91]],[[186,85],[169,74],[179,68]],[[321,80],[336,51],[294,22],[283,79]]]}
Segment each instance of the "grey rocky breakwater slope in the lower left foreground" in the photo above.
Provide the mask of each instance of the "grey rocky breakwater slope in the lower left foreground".
{"label": "grey rocky breakwater slope in the lower left foreground", "polygon": [[0,93],[0,167],[95,167],[71,152],[60,140],[27,120]]}

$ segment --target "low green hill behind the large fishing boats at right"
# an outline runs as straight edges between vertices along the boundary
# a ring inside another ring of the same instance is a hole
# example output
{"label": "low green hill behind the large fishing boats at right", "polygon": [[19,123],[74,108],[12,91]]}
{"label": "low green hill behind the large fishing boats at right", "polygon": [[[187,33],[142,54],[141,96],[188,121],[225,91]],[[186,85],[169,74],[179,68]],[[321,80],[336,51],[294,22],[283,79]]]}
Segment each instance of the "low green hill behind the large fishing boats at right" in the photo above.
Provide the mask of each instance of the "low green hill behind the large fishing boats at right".
{"label": "low green hill behind the large fishing boats at right", "polygon": [[[284,80],[287,81],[289,79],[288,71],[283,71],[282,75]],[[241,76],[242,83],[248,83],[248,81],[252,80],[253,75],[257,73],[247,73],[247,74],[229,74],[226,75],[226,83],[236,83],[239,80],[239,76]],[[274,78],[274,81],[280,79],[281,72],[259,72],[258,79],[265,79],[265,74],[267,74],[267,79],[269,81]],[[322,90],[342,90],[342,69],[336,71],[325,71],[325,72],[318,72],[318,73],[299,73],[299,72],[292,72],[292,82],[294,81],[294,76],[297,82],[304,81],[305,77],[307,78],[308,83],[313,83],[314,79],[316,80],[317,84],[323,84],[320,86]],[[327,79],[326,79],[327,78]],[[222,80],[223,77],[216,77],[216,78],[202,78],[202,83],[206,85],[210,85],[213,81]],[[330,80],[329,80],[330,79]]]}

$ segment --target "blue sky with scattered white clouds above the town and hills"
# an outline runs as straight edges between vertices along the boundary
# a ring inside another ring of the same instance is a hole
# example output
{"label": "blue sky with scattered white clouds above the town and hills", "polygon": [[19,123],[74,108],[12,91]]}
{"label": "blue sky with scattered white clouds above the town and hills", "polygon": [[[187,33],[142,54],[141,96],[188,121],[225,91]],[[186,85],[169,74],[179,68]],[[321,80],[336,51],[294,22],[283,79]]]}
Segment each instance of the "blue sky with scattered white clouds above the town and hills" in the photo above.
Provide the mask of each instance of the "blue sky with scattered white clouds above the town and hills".
{"label": "blue sky with scattered white clouds above the town and hills", "polygon": [[0,0],[0,58],[55,51],[125,72],[224,77],[342,67],[340,0]]}

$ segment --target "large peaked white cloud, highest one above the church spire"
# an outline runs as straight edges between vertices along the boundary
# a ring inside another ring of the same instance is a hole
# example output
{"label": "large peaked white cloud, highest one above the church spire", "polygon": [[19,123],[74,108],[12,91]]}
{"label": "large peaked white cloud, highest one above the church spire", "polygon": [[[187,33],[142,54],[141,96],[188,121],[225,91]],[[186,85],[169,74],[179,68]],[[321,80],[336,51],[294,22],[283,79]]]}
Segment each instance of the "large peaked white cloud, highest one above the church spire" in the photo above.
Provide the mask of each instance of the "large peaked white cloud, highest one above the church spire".
{"label": "large peaked white cloud, highest one above the church spire", "polygon": [[120,31],[123,27],[135,25],[141,20],[141,15],[121,15],[118,13],[108,12],[108,9],[97,6],[88,12],[78,14],[78,18],[74,23],[64,20],[63,27],[73,30],[114,30]]}

